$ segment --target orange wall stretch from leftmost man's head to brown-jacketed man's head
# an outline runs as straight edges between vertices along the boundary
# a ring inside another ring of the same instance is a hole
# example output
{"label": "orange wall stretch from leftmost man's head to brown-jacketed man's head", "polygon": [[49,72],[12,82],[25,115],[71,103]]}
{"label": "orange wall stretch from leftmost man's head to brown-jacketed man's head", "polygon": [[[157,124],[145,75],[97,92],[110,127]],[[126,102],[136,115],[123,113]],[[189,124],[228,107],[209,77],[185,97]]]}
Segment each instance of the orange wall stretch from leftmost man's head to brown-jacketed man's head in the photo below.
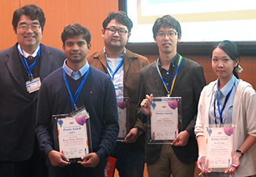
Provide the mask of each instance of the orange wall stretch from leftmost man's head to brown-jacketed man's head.
{"label": "orange wall stretch from leftmost man's head to brown-jacketed man's head", "polygon": [[118,10],[117,0],[21,0],[21,6],[35,3],[46,15],[43,43],[62,49],[61,32],[69,24],[79,23],[91,31],[91,52],[102,48],[102,21],[110,11]]}

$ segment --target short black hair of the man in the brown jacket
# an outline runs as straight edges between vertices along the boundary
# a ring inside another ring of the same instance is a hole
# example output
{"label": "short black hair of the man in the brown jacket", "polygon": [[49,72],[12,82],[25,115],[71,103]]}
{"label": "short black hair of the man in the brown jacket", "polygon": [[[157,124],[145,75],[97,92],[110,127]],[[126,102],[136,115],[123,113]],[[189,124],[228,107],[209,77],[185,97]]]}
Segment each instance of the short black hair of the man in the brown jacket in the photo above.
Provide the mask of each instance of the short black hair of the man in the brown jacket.
{"label": "short black hair of the man in the brown jacket", "polygon": [[126,26],[128,28],[128,32],[132,31],[132,26],[133,26],[132,20],[128,18],[126,13],[124,13],[124,11],[120,10],[117,13],[110,12],[108,17],[106,17],[106,19],[102,23],[102,28],[104,29],[104,31],[106,30],[106,27],[108,26],[111,20],[116,20],[117,23],[123,24],[124,26]]}

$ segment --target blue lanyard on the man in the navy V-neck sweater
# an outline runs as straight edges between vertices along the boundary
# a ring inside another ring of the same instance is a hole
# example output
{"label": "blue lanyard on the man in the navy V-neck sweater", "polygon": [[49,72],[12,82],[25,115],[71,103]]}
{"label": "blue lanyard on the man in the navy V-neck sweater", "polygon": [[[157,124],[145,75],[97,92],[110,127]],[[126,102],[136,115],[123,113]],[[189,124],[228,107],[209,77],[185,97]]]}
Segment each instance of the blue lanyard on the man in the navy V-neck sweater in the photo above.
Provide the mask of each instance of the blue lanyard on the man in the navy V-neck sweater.
{"label": "blue lanyard on the man in the navy V-neck sweater", "polygon": [[74,97],[72,97],[72,94],[71,94],[71,91],[70,91],[70,88],[69,88],[69,82],[68,82],[68,80],[66,79],[66,76],[65,76],[65,70],[64,70],[64,68],[62,68],[65,85],[66,85],[66,87],[69,91],[69,97],[70,97],[70,101],[71,101],[71,104],[72,104],[72,110],[74,110],[74,109],[77,110],[76,101],[77,101],[78,96],[80,95],[80,92],[81,92],[82,88],[83,88],[83,84],[84,84],[85,80],[87,79],[89,71],[90,71],[90,67],[88,68],[87,72],[83,76],[83,80],[80,83],[80,86],[77,88],[76,94],[74,95]]}

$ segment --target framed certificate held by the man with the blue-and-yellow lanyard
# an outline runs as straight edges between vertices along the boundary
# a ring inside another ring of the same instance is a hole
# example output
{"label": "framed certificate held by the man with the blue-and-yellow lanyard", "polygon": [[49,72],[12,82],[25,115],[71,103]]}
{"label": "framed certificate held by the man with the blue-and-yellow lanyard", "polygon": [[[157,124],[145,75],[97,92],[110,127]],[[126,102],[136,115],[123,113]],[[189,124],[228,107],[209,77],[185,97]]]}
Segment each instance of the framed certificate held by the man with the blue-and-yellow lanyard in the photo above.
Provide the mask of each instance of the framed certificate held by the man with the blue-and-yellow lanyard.
{"label": "framed certificate held by the man with the blue-and-yellow lanyard", "polygon": [[169,144],[179,134],[181,121],[181,98],[153,98],[150,106],[149,144]]}

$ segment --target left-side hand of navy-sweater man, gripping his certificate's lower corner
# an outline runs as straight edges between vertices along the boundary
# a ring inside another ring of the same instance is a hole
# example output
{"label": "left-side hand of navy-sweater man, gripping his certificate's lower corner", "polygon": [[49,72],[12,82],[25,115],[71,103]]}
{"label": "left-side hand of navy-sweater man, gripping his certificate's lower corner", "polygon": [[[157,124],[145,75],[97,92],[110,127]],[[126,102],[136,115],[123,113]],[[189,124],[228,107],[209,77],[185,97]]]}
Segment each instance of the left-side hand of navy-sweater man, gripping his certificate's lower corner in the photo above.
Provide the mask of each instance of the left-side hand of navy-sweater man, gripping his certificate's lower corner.
{"label": "left-side hand of navy-sweater man, gripping his certificate's lower corner", "polygon": [[70,164],[69,159],[56,150],[51,150],[48,153],[48,157],[50,159],[50,164],[55,167],[65,167]]}

